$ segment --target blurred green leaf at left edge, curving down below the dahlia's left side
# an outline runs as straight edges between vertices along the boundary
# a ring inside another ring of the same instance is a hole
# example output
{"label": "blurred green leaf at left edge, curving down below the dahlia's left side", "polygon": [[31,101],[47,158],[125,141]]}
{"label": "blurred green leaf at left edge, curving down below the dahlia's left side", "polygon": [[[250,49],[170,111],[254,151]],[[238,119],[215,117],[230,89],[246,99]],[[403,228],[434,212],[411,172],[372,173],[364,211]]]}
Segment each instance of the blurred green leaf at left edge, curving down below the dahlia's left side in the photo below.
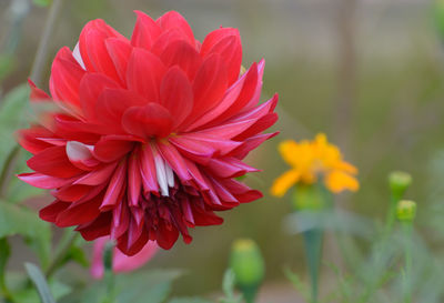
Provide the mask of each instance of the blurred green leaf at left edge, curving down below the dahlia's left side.
{"label": "blurred green leaf at left edge, curving down below the dahlia's left side", "polygon": [[42,266],[49,262],[51,252],[50,225],[39,215],[23,206],[0,200],[0,238],[20,234],[31,244]]}

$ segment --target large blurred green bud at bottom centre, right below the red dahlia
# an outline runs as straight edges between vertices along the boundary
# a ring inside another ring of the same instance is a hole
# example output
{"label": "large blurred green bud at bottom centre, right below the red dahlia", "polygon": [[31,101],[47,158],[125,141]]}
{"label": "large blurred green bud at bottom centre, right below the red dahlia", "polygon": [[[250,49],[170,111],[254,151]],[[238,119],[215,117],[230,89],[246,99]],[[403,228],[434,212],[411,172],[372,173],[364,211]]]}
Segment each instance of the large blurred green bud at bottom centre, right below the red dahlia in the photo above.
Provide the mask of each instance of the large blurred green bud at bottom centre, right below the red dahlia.
{"label": "large blurred green bud at bottom centre, right below the red dahlia", "polygon": [[234,241],[230,266],[234,272],[236,286],[246,302],[253,302],[265,274],[264,261],[258,244],[251,239]]}

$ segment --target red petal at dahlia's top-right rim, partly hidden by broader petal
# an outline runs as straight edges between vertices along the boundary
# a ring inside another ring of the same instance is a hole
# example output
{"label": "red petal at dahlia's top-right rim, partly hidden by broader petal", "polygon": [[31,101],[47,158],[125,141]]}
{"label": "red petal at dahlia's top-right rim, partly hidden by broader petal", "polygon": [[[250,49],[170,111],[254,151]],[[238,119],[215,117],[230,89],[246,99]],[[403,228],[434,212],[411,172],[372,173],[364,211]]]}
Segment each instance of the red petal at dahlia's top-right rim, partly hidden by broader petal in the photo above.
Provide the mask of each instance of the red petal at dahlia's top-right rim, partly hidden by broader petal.
{"label": "red petal at dahlia's top-right rim, partly hidden by broader petal", "polygon": [[[205,55],[204,51],[206,48],[203,47],[206,47],[205,41],[203,41],[202,44],[203,51],[201,49],[201,55]],[[230,84],[238,80],[242,63],[242,46],[239,32],[238,34],[222,38],[208,51],[208,54],[210,53],[219,53],[226,63],[228,80]]]}

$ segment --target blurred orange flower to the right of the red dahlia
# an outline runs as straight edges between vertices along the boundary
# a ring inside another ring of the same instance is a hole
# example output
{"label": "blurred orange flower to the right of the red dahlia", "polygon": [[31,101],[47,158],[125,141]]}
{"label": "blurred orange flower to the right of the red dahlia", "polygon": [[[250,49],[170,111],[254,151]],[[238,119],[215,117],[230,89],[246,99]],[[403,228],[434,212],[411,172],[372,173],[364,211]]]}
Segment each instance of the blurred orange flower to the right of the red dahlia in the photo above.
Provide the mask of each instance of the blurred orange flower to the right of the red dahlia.
{"label": "blurred orange flower to the right of the red dahlia", "polygon": [[341,151],[330,144],[323,133],[317,134],[314,141],[283,141],[279,151],[292,169],[274,181],[271,188],[273,195],[283,196],[294,184],[313,184],[320,176],[334,193],[357,191],[360,188],[355,179],[357,169],[342,160]]}

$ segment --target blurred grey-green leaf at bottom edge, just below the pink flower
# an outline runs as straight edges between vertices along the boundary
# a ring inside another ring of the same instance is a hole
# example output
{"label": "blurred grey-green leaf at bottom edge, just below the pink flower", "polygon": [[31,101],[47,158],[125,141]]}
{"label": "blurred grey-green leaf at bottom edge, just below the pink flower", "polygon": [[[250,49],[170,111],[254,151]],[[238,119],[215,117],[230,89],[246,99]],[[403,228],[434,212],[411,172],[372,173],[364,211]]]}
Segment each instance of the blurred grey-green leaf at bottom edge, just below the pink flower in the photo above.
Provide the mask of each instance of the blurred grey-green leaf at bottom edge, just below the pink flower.
{"label": "blurred grey-green leaf at bottom edge, just below the pink flower", "polygon": [[172,282],[182,274],[176,270],[155,270],[115,276],[118,303],[164,302],[171,293]]}

